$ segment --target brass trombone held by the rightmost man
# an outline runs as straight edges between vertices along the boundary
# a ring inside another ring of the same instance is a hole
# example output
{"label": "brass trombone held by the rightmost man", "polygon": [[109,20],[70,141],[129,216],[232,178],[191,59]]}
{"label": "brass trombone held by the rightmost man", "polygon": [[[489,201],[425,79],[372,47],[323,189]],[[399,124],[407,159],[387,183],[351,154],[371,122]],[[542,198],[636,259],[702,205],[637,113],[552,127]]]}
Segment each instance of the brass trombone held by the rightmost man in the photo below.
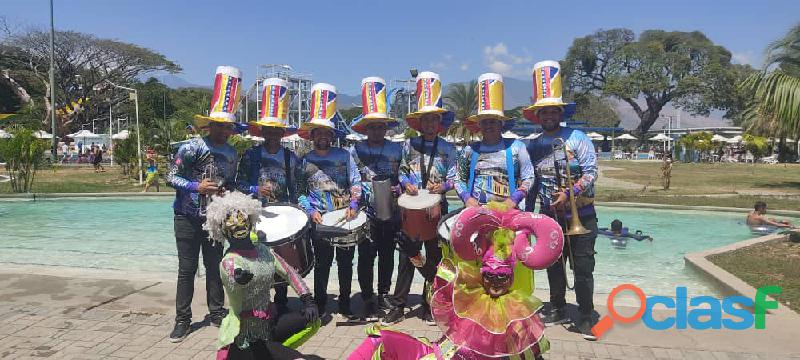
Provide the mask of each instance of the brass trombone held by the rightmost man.
{"label": "brass trombone held by the rightmost man", "polygon": [[[588,234],[591,231],[587,230],[583,224],[581,224],[581,219],[578,217],[578,206],[575,201],[575,183],[572,180],[572,173],[569,169],[569,156],[567,155],[567,147],[566,141],[563,138],[557,137],[553,139],[553,170],[555,171],[556,176],[556,187],[561,188],[561,172],[559,171],[559,159],[556,158],[556,151],[562,150],[564,153],[564,173],[566,175],[566,179],[564,179],[563,183],[564,186],[567,188],[567,198],[569,199],[569,207],[570,207],[570,215],[572,218],[569,221],[569,224],[564,224],[566,229],[564,229],[564,240],[566,241],[567,247],[567,255],[569,256],[569,268],[574,270],[575,258],[572,255],[572,246],[571,246],[571,236],[572,235],[583,235]],[[555,215],[556,221],[561,224],[561,220],[558,218],[558,210],[554,211],[553,214]],[[567,276],[567,267],[564,264],[565,259],[561,257],[561,265],[564,269],[564,281],[567,283],[567,288],[569,290],[575,289],[575,284],[573,286],[569,286],[569,277]]]}

